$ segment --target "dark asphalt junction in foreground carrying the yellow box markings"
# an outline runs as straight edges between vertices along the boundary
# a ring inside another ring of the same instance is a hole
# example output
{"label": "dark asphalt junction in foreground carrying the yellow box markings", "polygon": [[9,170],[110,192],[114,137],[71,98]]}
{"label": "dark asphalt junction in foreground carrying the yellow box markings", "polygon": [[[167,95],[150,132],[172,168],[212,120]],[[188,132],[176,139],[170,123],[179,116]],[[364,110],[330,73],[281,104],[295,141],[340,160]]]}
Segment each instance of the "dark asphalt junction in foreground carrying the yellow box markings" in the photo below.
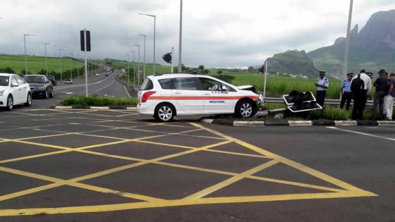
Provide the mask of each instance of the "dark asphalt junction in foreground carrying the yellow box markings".
{"label": "dark asphalt junction in foreground carrying the yellow box markings", "polygon": [[395,221],[395,128],[1,112],[0,221]]}

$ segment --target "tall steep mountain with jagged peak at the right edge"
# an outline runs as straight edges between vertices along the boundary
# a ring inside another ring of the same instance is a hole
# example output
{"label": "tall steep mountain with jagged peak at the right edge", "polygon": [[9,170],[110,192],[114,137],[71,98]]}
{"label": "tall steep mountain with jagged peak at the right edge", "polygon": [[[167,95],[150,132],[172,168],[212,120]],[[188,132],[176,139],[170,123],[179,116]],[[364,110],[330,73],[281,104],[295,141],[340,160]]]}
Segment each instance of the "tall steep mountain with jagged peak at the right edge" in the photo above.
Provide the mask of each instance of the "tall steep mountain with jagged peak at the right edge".
{"label": "tall steep mountain with jagged peak at the right edge", "polygon": [[[350,35],[348,72],[361,69],[377,73],[380,68],[395,72],[395,10],[374,13],[362,30],[358,25]],[[341,78],[346,38],[336,39],[334,44],[310,51],[308,57],[320,70]]]}

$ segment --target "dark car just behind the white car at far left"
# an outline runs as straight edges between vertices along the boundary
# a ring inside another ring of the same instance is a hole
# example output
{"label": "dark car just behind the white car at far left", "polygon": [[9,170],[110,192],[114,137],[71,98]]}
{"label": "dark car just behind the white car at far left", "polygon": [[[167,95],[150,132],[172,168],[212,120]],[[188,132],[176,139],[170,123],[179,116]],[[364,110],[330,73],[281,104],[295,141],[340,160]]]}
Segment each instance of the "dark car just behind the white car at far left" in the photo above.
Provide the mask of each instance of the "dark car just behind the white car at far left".
{"label": "dark car just behind the white car at far left", "polygon": [[23,79],[29,83],[32,97],[54,97],[54,86],[46,75],[25,75]]}

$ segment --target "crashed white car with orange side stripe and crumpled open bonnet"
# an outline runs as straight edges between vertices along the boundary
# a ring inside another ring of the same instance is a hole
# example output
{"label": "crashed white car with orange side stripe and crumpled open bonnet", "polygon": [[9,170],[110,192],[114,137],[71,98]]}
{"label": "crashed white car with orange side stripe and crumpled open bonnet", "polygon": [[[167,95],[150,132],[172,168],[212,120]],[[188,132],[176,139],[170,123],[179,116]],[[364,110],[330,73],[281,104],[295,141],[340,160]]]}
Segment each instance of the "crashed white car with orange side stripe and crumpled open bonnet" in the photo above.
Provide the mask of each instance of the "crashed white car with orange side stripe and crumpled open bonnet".
{"label": "crashed white car with orange side stripe and crumpled open bonnet", "polygon": [[257,113],[262,96],[208,75],[148,76],[138,92],[137,111],[169,122],[174,116],[234,113],[248,118]]}

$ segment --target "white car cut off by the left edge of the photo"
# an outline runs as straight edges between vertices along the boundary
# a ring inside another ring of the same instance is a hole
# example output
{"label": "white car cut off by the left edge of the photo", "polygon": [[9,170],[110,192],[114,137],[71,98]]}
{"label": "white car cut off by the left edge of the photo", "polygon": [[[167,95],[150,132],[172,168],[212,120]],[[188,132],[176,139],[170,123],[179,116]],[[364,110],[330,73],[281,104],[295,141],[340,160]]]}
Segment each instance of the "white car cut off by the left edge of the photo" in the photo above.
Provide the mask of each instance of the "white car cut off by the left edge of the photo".
{"label": "white car cut off by the left edge of the photo", "polygon": [[18,104],[32,105],[30,85],[19,75],[0,73],[0,107],[11,110]]}

